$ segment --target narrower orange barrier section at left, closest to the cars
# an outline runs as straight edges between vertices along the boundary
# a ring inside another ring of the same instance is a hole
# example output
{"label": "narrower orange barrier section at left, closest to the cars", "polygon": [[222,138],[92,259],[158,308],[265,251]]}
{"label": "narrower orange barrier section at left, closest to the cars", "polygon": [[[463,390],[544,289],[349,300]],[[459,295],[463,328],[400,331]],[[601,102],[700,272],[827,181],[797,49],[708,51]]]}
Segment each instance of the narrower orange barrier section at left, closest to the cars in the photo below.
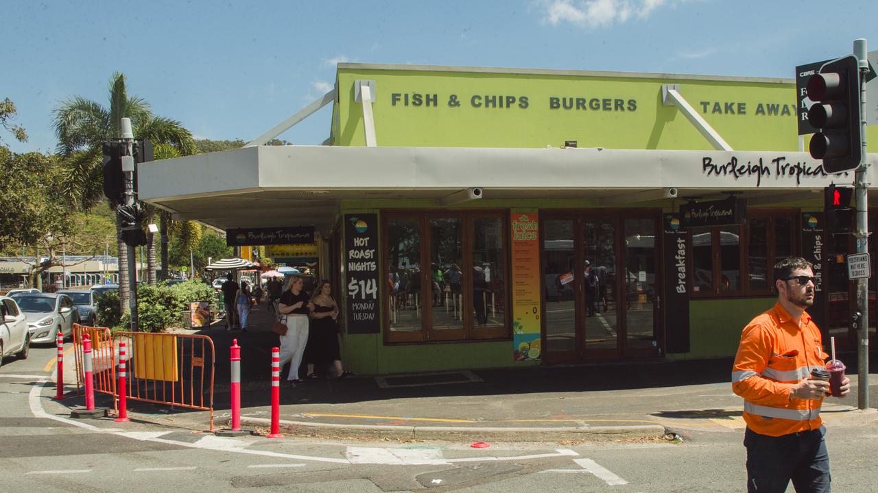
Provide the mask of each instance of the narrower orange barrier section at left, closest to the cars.
{"label": "narrower orange barrier section at left, closest to the cars", "polygon": [[73,347],[76,352],[76,395],[85,384],[83,370],[83,336],[89,334],[91,340],[91,358],[94,372],[95,392],[109,394],[113,397],[114,413],[118,412],[116,394],[116,348],[113,345],[110,329],[107,327],[90,327],[73,325]]}

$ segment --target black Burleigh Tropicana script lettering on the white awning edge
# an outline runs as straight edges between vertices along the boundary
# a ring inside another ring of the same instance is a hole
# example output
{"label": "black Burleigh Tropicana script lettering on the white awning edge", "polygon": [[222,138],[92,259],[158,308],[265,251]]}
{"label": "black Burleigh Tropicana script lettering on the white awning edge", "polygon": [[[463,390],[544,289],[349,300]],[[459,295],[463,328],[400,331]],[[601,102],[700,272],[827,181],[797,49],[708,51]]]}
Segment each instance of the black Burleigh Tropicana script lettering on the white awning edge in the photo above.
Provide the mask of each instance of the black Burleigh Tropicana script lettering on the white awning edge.
{"label": "black Burleigh Tropicana script lettering on the white awning edge", "polygon": [[[729,161],[714,161],[710,156],[702,157],[702,174],[709,178],[723,178],[731,176],[738,180],[750,179],[756,182],[756,186],[763,181],[774,179],[795,180],[796,185],[802,184],[802,179],[823,178],[829,176],[824,171],[822,164],[813,165],[805,161],[788,161],[786,156],[778,156],[772,160],[759,158],[757,161],[739,161],[732,156]],[[847,175],[847,173],[844,173]]]}

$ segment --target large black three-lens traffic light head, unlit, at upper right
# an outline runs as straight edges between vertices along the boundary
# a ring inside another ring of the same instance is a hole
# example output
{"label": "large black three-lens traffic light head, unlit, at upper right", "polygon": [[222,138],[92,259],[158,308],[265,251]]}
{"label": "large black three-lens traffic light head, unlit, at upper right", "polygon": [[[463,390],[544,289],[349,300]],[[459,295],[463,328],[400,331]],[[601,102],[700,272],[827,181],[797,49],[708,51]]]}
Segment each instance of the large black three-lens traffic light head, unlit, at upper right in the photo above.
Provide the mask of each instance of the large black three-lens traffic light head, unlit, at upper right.
{"label": "large black three-lens traffic light head, unlit, at upper right", "polygon": [[827,173],[860,166],[860,68],[848,55],[824,64],[808,79],[808,98],[814,102],[808,121],[820,131],[811,136],[809,151],[824,161]]}

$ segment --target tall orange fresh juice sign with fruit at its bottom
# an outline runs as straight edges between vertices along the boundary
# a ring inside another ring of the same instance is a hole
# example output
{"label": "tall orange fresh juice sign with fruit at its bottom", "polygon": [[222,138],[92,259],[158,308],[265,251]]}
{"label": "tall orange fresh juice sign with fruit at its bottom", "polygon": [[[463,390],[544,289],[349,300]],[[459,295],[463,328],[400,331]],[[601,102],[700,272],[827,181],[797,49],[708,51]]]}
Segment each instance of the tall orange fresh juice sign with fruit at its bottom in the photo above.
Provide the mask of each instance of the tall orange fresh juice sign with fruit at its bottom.
{"label": "tall orange fresh juice sign with fruit at its bottom", "polygon": [[540,357],[540,235],[536,212],[512,214],[512,328],[515,360]]}

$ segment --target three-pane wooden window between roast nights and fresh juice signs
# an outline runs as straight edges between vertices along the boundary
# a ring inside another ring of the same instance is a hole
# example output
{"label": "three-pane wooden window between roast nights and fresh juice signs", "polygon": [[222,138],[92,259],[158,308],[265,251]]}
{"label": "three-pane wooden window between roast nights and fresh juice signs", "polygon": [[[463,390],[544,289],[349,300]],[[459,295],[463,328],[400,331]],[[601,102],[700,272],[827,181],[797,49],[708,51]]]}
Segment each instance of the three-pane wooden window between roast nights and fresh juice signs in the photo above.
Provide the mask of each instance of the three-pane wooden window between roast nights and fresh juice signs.
{"label": "three-pane wooden window between roast nights and fresh juice signs", "polygon": [[385,340],[508,337],[505,211],[385,211]]}

